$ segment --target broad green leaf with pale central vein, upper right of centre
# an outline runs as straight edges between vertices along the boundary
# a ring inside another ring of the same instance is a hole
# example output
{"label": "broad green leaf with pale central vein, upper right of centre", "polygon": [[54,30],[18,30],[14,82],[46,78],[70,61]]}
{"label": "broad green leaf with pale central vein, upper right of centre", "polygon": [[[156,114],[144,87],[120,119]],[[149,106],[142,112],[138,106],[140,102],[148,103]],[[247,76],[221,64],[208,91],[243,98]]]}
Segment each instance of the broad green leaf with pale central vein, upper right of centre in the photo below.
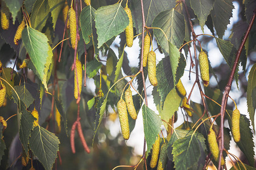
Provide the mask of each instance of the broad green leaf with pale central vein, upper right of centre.
{"label": "broad green leaf with pale central vein, upper right of centre", "polygon": [[[170,52],[170,44],[174,44],[177,47],[180,47],[183,44],[185,39],[185,20],[184,16],[174,10],[167,10],[160,12],[158,16],[155,17],[152,27],[161,28],[164,33],[160,29],[154,29],[154,35],[158,44],[163,48],[164,52]],[[170,53],[171,55],[171,53]]]}

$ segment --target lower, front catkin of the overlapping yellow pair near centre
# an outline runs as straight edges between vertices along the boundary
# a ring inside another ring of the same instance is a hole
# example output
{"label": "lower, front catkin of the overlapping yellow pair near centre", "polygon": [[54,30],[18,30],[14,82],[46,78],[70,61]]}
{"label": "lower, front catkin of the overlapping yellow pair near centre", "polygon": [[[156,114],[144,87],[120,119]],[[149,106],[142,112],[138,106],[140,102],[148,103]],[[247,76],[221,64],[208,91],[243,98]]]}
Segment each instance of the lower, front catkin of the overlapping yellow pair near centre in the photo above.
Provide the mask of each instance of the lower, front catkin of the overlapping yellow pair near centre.
{"label": "lower, front catkin of the overlapping yellow pair near centre", "polygon": [[155,52],[151,51],[148,53],[147,57],[147,71],[148,79],[152,86],[158,85],[158,80],[156,79],[156,61],[155,61]]}

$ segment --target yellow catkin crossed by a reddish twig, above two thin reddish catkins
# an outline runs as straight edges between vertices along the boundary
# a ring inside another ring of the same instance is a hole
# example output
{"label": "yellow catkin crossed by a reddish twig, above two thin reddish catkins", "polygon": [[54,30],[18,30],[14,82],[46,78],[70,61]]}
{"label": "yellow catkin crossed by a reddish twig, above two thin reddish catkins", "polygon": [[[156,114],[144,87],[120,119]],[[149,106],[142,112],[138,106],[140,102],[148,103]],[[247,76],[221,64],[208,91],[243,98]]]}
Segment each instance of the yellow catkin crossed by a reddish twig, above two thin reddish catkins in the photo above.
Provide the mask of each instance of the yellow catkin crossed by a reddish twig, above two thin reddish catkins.
{"label": "yellow catkin crossed by a reddish twig, above two thin reddish catkins", "polygon": [[[76,70],[77,70],[77,78],[78,78],[78,82],[79,82],[79,93],[77,91],[77,81],[76,81]],[[78,94],[81,94],[82,91],[82,63],[76,59],[76,69],[74,71],[75,74],[75,79],[74,79],[74,96],[77,99],[78,98]]]}

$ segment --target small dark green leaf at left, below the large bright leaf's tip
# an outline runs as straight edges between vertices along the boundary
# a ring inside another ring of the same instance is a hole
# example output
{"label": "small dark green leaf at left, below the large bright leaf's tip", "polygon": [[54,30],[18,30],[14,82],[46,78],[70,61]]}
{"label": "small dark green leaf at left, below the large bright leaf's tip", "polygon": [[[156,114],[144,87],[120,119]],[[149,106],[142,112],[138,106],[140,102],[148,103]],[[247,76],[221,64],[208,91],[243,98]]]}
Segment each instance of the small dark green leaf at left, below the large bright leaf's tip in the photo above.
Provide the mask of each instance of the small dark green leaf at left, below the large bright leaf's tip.
{"label": "small dark green leaf at left, below the large bright leaf's tip", "polygon": [[30,105],[33,103],[34,98],[30,94],[30,92],[27,90],[26,83],[22,86],[15,86],[15,91],[19,95],[20,100],[24,103],[26,108],[30,107]]}

